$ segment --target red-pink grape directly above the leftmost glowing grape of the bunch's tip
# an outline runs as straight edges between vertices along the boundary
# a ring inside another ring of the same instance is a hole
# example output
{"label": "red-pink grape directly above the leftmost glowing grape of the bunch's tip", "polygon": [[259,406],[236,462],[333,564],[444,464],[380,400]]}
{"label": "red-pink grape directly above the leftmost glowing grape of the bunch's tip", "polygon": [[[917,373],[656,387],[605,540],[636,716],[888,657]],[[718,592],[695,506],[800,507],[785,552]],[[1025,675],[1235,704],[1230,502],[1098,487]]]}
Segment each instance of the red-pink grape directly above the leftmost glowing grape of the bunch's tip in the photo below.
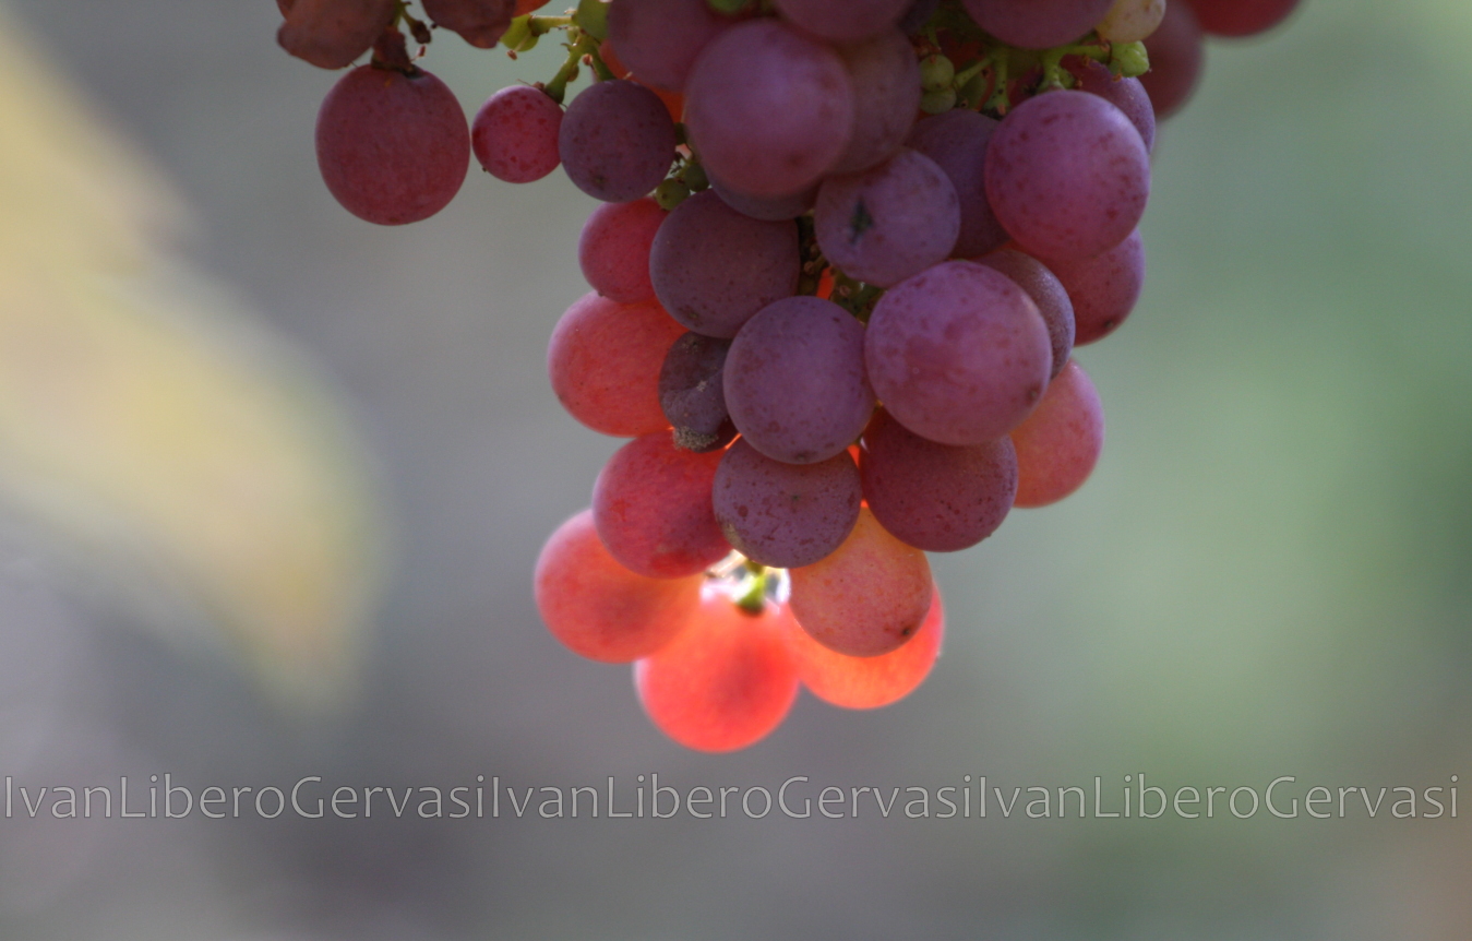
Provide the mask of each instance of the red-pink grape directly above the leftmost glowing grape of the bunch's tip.
{"label": "red-pink grape directly above the leftmost glowing grape of the bunch's tip", "polygon": [[598,538],[626,568],[652,579],[679,579],[730,554],[711,508],[721,452],[674,446],[668,431],[620,448],[593,484]]}

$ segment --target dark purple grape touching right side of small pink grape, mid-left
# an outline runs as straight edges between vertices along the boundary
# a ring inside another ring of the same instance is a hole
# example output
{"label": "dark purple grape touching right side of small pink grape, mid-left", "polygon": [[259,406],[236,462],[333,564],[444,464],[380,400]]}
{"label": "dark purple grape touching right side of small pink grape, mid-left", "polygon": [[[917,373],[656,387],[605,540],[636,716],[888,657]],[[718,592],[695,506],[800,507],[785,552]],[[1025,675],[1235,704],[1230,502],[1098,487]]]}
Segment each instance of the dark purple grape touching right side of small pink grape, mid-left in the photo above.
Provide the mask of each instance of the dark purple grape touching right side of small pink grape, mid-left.
{"label": "dark purple grape touching right side of small pink grape, mid-left", "polygon": [[659,227],[649,277],[670,315],[696,333],[733,337],[774,300],[798,290],[802,258],[795,222],[762,222],[707,190]]}

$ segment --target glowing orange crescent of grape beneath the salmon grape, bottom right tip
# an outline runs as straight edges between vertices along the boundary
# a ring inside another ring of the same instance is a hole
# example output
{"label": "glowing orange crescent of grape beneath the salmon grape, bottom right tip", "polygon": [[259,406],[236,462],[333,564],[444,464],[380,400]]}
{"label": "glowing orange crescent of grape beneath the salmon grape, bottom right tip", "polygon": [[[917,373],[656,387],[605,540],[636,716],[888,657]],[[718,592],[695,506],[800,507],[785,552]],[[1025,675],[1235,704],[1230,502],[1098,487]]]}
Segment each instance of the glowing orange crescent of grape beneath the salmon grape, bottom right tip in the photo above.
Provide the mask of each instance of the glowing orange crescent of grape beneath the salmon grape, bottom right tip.
{"label": "glowing orange crescent of grape beneath the salmon grape, bottom right tip", "polygon": [[823,646],[795,620],[788,630],[798,679],[813,695],[842,708],[879,708],[898,702],[930,674],[945,639],[941,589],[930,589],[930,610],[910,642],[879,657],[846,657]]}

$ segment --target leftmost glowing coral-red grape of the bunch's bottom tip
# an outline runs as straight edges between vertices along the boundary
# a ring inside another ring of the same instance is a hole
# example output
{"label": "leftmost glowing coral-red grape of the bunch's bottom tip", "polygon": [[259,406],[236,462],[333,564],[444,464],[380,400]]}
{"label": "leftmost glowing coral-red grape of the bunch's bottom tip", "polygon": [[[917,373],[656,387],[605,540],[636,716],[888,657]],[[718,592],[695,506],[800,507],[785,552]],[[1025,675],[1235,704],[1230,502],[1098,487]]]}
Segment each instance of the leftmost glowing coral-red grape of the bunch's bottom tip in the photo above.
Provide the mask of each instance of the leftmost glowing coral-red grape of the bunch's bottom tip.
{"label": "leftmost glowing coral-red grape of the bunch's bottom tip", "polygon": [[573,652],[630,663],[684,629],[705,576],[649,579],[629,571],[598,540],[593,511],[558,527],[537,557],[533,586],[548,630]]}

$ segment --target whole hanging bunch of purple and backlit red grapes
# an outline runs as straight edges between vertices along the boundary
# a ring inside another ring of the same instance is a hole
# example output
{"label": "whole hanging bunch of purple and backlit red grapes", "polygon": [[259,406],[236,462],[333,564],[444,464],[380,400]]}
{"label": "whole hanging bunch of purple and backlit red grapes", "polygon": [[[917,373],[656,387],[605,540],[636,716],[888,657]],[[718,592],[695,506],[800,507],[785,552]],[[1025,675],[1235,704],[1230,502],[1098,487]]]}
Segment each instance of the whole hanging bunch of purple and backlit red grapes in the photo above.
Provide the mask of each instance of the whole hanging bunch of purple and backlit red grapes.
{"label": "whole hanging bunch of purple and backlit red grapes", "polygon": [[[471,153],[602,200],[592,292],[552,387],[631,439],[537,560],[537,607],[584,657],[636,664],[692,748],[771,732],[799,685],[871,708],[944,633],[926,552],[1075,492],[1104,440],[1075,346],[1145,272],[1156,119],[1203,32],[1295,0],[422,0],[475,46],[565,35],[556,75],[467,127],[402,0],[278,0],[281,43],[340,68],[318,158],[380,224],[422,219]],[[593,82],[564,108],[581,72]]]}

